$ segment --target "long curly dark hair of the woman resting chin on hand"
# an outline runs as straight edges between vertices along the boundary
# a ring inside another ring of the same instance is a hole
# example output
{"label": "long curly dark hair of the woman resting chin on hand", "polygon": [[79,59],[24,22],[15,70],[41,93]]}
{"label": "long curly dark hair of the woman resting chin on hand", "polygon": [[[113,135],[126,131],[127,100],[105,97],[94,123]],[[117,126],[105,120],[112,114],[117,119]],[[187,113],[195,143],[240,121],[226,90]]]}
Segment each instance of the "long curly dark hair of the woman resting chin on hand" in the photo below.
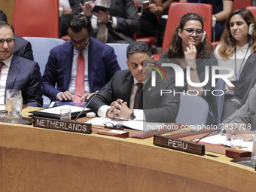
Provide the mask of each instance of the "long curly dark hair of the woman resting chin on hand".
{"label": "long curly dark hair of the woman resting chin on hand", "polygon": [[[200,17],[200,15],[194,13],[185,14],[181,18],[178,27],[175,29],[174,35],[172,36],[172,41],[169,45],[169,48],[167,49],[168,57],[170,59],[184,58],[184,51],[182,50],[182,39],[178,35],[178,29],[183,30],[184,26],[189,20],[199,20],[202,24],[203,30],[203,18]],[[212,45],[205,38],[203,43],[200,43],[200,49],[197,50],[197,59],[206,59],[209,57],[210,53],[212,53]]]}

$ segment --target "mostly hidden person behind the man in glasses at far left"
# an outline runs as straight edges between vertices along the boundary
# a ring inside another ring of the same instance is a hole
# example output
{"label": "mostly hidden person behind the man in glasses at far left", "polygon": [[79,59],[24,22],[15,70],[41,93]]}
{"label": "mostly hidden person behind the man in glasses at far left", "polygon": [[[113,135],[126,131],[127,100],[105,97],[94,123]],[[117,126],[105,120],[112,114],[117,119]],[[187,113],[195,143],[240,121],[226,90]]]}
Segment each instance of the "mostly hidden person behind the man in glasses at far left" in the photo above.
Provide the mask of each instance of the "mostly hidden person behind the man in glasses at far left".
{"label": "mostly hidden person behind the man in glasses at far left", "polygon": [[[6,23],[8,22],[7,16],[2,10],[0,10],[0,20],[5,21]],[[21,56],[23,58],[33,61],[34,60],[33,51],[29,41],[26,41],[24,38],[21,38],[20,36],[15,34],[14,34],[14,38],[15,38],[14,53],[17,56]]]}

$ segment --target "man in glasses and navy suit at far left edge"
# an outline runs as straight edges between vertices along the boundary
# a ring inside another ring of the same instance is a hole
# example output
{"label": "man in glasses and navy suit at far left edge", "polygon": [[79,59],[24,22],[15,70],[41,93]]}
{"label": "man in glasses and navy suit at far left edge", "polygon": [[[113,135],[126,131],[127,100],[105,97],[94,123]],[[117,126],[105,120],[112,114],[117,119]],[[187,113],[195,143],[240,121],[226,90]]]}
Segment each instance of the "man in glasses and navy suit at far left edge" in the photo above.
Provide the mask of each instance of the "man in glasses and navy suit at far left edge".
{"label": "man in glasses and navy suit at far left edge", "polygon": [[41,107],[41,73],[37,62],[14,54],[14,29],[0,21],[0,103],[5,103],[6,90],[21,90],[23,104]]}

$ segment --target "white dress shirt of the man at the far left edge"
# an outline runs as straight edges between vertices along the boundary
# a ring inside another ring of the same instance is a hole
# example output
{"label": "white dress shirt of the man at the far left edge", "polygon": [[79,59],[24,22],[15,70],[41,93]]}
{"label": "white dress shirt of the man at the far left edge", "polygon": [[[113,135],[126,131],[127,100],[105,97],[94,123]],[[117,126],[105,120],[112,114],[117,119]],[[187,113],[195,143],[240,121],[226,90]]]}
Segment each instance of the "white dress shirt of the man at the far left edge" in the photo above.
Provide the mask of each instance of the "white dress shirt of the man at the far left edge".
{"label": "white dress shirt of the man at the far left edge", "polygon": [[11,59],[13,59],[13,55],[3,61],[5,65],[2,66],[2,75],[0,80],[0,104],[5,104],[5,87],[8,78],[8,72],[11,66]]}

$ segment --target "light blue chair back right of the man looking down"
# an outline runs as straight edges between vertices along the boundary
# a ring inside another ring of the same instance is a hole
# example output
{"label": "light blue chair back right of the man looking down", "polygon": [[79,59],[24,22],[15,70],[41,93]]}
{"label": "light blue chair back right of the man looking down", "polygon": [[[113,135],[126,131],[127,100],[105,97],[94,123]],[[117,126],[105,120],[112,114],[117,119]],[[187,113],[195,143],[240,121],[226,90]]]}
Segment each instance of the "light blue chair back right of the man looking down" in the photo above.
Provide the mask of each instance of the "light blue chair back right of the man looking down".
{"label": "light blue chair back right of the man looking down", "polygon": [[121,68],[121,70],[128,69],[126,64],[126,48],[129,44],[108,44],[109,46],[113,47],[114,53],[117,55],[117,62]]}

